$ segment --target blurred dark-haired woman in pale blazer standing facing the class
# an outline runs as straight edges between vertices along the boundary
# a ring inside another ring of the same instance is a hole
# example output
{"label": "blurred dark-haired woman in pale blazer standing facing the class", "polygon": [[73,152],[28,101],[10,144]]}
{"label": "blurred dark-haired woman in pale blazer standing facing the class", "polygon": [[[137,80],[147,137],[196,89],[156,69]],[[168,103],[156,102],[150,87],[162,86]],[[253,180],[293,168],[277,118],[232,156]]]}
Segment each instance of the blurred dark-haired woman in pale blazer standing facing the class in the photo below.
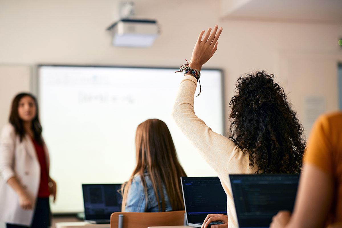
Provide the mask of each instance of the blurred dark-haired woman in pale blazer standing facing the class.
{"label": "blurred dark-haired woman in pale blazer standing facing the class", "polygon": [[49,176],[49,153],[42,137],[37,99],[16,95],[9,123],[0,135],[0,221],[7,228],[50,226],[49,196],[56,183]]}

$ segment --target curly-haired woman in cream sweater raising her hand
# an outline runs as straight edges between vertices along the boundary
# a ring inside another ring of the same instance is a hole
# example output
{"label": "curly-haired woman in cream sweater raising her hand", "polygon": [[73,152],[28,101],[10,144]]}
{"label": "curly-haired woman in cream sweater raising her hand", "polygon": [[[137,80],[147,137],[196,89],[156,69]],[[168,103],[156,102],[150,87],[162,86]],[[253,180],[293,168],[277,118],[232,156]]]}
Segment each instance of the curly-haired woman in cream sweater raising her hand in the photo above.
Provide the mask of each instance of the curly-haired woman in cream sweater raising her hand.
{"label": "curly-haired woman in cream sweater raising her hand", "polygon": [[[217,50],[222,28],[201,31],[176,96],[172,115],[190,142],[218,173],[227,194],[227,214],[208,215],[212,228],[238,227],[228,174],[300,173],[305,149],[303,128],[284,89],[265,71],[240,76],[232,108],[229,137],[213,132],[194,112],[198,72]],[[188,73],[189,72],[189,73]]]}

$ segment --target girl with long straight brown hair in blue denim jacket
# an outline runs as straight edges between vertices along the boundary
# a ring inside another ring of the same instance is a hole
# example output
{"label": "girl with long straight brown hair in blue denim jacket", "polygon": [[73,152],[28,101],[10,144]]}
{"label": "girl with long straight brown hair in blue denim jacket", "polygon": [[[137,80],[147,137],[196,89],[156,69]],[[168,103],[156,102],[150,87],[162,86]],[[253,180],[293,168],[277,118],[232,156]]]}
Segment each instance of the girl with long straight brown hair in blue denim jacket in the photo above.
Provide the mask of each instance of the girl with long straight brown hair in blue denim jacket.
{"label": "girl with long straight brown hair in blue denim jacket", "polygon": [[136,166],[121,187],[124,212],[184,210],[181,176],[186,176],[165,122],[148,119],[136,129]]}

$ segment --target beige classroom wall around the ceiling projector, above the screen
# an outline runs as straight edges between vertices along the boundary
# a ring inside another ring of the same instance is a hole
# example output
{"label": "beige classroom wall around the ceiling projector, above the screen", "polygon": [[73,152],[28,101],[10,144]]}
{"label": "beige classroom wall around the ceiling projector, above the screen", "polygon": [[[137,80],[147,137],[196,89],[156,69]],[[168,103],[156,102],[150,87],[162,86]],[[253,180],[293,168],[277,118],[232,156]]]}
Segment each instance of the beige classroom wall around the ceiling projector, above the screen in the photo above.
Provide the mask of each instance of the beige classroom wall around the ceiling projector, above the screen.
{"label": "beige classroom wall around the ceiling projector, above the screen", "polygon": [[[116,1],[0,0],[0,5],[0,65],[174,67],[190,58],[201,29],[219,24],[224,30],[218,51],[205,66],[225,71],[226,104],[237,77],[260,69],[274,73],[284,85],[303,124],[307,96],[324,97],[326,111],[338,108],[337,62],[342,62],[342,49],[337,40],[342,25],[220,20],[218,0],[136,1],[136,15],[156,18],[161,35],[150,48],[117,48],[105,31],[118,18]],[[1,83],[6,87],[15,80]],[[315,88],[304,86],[306,82]],[[15,82],[18,90],[29,83]],[[0,100],[1,107],[8,107],[8,99]],[[2,109],[1,125],[5,112]],[[310,123],[305,126],[310,130]]]}

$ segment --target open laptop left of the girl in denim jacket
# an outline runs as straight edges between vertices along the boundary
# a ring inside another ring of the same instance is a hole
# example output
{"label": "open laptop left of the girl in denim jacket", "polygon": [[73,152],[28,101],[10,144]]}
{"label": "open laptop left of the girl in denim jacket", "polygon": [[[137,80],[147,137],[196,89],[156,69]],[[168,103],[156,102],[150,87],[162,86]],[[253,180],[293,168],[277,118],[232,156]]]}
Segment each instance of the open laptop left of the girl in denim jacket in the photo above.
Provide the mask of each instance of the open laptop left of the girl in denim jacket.
{"label": "open laptop left of the girl in denim jacket", "polygon": [[121,184],[82,184],[84,221],[109,224],[110,215],[121,211]]}

